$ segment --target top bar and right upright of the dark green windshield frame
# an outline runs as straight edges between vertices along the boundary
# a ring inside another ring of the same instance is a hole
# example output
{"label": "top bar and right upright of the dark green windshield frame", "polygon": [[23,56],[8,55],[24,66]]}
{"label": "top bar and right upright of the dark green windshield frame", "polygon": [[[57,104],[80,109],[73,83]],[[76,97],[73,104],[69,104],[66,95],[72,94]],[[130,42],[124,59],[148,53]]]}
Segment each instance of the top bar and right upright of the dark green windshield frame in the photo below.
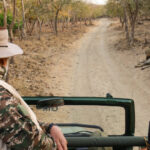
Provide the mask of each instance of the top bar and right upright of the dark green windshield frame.
{"label": "top bar and right upright of the dark green windshield frame", "polygon": [[125,133],[124,136],[133,136],[135,131],[135,109],[132,99],[104,98],[104,97],[23,97],[29,105],[37,105],[39,101],[63,99],[64,105],[97,105],[118,106],[125,109]]}

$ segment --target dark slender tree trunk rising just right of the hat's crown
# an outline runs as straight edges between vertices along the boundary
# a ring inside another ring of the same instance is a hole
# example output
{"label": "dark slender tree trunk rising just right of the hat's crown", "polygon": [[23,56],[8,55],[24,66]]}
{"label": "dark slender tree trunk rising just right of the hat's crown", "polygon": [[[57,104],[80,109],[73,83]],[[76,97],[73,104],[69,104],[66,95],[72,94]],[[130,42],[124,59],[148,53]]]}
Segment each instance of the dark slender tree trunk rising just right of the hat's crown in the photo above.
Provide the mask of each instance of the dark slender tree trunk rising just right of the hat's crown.
{"label": "dark slender tree trunk rising just right of the hat's crown", "polygon": [[10,35],[10,42],[13,42],[13,27],[14,27],[14,22],[15,22],[15,17],[16,17],[16,0],[13,0],[13,18],[12,18],[12,22],[9,26],[9,35]]}

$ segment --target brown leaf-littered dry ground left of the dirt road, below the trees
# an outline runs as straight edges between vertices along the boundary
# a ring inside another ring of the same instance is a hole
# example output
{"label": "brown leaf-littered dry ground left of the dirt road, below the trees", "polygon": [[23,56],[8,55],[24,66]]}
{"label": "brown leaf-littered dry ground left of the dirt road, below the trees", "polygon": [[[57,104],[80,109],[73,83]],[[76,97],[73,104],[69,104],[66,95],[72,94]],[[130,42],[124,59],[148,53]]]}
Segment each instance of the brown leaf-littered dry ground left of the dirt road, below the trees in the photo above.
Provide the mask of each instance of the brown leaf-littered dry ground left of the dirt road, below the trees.
{"label": "brown leaf-littered dry ground left of the dirt road, below the trees", "polygon": [[16,39],[14,43],[24,50],[24,54],[14,57],[8,82],[22,96],[51,95],[51,91],[59,86],[53,82],[57,75],[51,74],[51,70],[63,62],[62,57],[87,30],[86,26],[76,26],[55,36],[45,27],[41,40],[38,40],[36,33],[22,41]]}

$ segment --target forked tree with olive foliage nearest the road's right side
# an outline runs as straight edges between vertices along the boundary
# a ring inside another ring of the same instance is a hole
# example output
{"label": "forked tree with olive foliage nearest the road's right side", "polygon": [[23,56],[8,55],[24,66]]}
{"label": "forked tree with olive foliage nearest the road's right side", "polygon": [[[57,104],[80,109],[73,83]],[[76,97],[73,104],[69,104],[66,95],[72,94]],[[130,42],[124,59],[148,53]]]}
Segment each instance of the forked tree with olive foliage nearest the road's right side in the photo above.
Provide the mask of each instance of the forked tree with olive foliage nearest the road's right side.
{"label": "forked tree with olive foliage nearest the road's right side", "polygon": [[110,13],[111,16],[120,18],[122,27],[125,25],[126,39],[129,45],[133,45],[135,25],[139,13],[139,0],[109,0],[107,11],[108,15]]}

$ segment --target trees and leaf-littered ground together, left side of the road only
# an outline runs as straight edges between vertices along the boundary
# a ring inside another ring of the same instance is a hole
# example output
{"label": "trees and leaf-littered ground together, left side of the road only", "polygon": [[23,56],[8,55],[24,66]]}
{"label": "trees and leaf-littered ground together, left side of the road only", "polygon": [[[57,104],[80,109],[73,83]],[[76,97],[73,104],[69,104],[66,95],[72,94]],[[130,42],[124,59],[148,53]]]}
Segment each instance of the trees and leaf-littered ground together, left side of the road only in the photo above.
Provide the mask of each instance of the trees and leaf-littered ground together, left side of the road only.
{"label": "trees and leaf-littered ground together, left side of the road only", "polygon": [[103,10],[80,0],[0,1],[0,27],[7,27],[10,41],[24,50],[13,58],[8,82],[21,95],[64,95],[60,92],[68,82],[64,78],[66,68],[71,69],[73,43],[97,23]]}

